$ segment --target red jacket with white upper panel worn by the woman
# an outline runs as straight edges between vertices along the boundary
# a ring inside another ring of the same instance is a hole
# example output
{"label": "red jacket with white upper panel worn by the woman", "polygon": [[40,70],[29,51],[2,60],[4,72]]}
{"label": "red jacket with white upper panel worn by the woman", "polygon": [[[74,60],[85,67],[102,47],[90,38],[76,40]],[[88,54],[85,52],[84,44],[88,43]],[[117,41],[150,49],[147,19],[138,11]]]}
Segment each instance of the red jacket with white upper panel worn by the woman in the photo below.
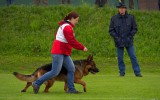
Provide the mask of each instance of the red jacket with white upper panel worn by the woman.
{"label": "red jacket with white upper panel worn by the woman", "polygon": [[[51,53],[71,55],[72,47],[78,50],[83,50],[84,46],[74,37],[74,25],[62,21],[59,23],[59,25],[60,27],[56,33],[56,38],[53,41]],[[59,30],[61,32],[59,32]]]}

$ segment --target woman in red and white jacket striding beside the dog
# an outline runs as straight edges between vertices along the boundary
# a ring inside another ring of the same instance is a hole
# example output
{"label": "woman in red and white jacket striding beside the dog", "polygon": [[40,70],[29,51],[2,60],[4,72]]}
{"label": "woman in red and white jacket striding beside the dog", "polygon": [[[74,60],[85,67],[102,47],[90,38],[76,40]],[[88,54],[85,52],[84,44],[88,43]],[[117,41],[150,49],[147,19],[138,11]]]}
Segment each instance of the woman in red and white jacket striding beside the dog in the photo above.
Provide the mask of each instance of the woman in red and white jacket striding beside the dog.
{"label": "woman in red and white jacket striding beside the dog", "polygon": [[74,88],[74,72],[75,66],[70,57],[72,47],[78,50],[87,51],[87,48],[79,43],[74,37],[73,27],[78,23],[79,15],[76,12],[70,12],[63,21],[59,22],[59,29],[53,42],[52,54],[52,70],[45,73],[42,77],[33,82],[33,91],[38,93],[40,85],[46,80],[59,74],[62,65],[67,69],[67,85],[68,93],[78,93]]}

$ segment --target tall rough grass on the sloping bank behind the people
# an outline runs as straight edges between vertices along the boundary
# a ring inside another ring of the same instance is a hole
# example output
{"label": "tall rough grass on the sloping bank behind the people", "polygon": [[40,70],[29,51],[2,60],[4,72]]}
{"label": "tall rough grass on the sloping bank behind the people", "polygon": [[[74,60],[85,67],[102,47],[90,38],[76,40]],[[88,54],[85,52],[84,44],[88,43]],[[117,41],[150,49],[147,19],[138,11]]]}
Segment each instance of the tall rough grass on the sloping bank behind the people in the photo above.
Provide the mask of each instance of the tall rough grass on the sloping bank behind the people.
{"label": "tall rough grass on the sloping bank behind the people", "polygon": [[[0,8],[1,55],[45,56],[50,55],[58,22],[70,11],[80,15],[74,28],[76,39],[88,49],[88,53],[73,50],[73,55],[115,57],[115,47],[108,33],[110,19],[117,9],[82,5],[73,6],[10,6]],[[135,15],[138,32],[135,36],[137,55],[159,57],[160,16],[159,11],[129,10]]]}

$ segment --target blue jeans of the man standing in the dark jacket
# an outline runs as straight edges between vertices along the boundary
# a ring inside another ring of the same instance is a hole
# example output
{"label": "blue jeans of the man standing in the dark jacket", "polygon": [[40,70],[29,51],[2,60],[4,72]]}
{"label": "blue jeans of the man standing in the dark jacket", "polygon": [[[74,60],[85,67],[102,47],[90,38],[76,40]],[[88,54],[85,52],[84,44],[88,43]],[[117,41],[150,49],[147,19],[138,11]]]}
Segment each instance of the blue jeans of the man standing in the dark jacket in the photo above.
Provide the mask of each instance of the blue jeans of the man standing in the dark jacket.
{"label": "blue jeans of the man standing in the dark jacket", "polygon": [[[125,47],[127,50],[127,53],[130,57],[132,68],[134,70],[135,75],[140,74],[140,67],[135,55],[134,46]],[[125,75],[125,64],[123,61],[124,56],[124,47],[117,47],[117,56],[118,56],[118,67],[119,67],[119,73],[121,75]]]}

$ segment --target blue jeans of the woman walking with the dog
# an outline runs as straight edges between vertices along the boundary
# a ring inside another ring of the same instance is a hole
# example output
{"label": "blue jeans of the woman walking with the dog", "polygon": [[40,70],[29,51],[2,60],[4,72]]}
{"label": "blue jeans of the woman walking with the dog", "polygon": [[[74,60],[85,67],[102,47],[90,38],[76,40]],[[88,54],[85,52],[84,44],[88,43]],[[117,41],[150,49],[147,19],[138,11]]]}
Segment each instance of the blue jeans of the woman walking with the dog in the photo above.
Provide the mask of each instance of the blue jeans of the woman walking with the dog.
{"label": "blue jeans of the woman walking with the dog", "polygon": [[52,55],[53,61],[52,61],[52,69],[51,71],[45,73],[43,76],[41,76],[39,79],[37,79],[34,83],[38,86],[43,84],[43,82],[57,76],[59,72],[61,71],[62,65],[67,70],[67,85],[69,90],[68,91],[74,91],[74,72],[75,72],[75,66],[70,56],[66,55],[60,55],[60,54],[53,54]]}

